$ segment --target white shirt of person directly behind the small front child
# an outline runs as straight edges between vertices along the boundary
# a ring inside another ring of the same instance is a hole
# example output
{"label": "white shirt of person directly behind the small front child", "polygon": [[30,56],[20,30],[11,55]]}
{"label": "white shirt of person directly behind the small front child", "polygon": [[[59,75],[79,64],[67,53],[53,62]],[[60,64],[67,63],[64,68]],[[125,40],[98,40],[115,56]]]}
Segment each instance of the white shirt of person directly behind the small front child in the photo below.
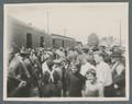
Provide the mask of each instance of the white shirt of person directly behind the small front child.
{"label": "white shirt of person directly behind the small front child", "polygon": [[87,72],[89,69],[96,69],[96,68],[95,68],[91,63],[86,62],[86,63],[82,65],[81,68],[80,68],[80,74],[86,76],[86,72]]}

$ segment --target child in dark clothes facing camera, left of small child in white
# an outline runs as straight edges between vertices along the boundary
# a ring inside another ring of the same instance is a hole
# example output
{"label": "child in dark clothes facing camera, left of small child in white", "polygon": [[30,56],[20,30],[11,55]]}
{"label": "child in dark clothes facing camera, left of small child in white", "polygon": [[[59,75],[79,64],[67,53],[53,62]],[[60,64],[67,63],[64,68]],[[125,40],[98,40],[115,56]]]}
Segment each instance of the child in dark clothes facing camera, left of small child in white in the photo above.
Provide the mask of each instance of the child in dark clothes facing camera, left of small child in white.
{"label": "child in dark clothes facing camera, left of small child in white", "polygon": [[85,78],[79,73],[80,63],[72,63],[72,68],[67,73],[67,96],[81,96],[81,90],[85,83]]}

